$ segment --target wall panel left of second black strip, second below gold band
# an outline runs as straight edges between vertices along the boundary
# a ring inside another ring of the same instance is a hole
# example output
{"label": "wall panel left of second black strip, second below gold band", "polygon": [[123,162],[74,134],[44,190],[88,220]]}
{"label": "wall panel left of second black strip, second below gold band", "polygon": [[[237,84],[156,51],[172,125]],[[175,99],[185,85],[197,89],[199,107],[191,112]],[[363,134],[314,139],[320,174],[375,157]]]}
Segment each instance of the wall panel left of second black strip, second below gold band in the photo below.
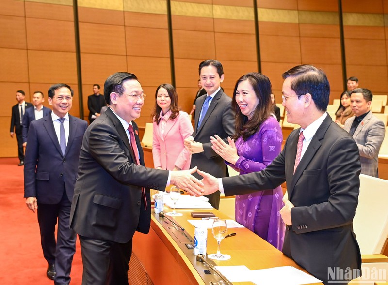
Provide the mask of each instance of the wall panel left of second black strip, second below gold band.
{"label": "wall panel left of second black strip, second below gold band", "polygon": [[127,55],[169,57],[166,29],[126,27]]}

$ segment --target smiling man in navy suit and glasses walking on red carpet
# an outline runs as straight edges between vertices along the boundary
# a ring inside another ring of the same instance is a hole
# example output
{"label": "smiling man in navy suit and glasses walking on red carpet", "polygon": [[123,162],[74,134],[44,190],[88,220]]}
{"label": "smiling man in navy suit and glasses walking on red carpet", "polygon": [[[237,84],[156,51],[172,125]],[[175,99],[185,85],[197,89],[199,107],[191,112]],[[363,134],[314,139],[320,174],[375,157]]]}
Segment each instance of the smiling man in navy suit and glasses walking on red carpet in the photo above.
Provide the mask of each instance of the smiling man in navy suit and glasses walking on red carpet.
{"label": "smiling man in navy suit and glasses walking on red carpet", "polygon": [[[24,165],[24,197],[37,211],[47,277],[55,285],[70,283],[76,233],[69,217],[78,159],[87,122],[69,115],[73,90],[66,84],[49,88],[51,114],[30,123]],[[57,240],[55,226],[58,221]]]}

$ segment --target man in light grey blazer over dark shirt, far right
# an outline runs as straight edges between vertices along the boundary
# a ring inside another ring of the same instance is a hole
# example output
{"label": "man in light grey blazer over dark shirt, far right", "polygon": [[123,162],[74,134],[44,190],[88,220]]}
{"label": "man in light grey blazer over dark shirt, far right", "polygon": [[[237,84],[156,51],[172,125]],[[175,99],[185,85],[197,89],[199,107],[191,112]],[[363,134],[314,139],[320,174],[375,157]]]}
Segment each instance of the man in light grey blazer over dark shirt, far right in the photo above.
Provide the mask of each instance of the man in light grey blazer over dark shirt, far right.
{"label": "man in light grey blazer over dark shirt, far right", "polygon": [[353,136],[360,151],[361,173],[374,177],[378,174],[378,156],[384,139],[385,127],[382,120],[372,114],[372,92],[356,88],[350,94],[350,105],[356,115],[345,121],[345,130]]}

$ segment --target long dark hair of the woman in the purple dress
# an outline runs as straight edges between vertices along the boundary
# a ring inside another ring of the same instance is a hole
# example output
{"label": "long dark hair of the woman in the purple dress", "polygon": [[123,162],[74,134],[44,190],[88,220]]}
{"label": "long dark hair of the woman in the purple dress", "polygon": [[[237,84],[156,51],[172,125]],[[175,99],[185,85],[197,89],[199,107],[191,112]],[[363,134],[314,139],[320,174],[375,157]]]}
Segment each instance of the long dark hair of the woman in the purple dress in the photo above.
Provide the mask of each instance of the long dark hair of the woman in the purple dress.
{"label": "long dark hair of the woman in the purple dress", "polygon": [[[243,115],[239,105],[236,102],[236,91],[240,82],[248,80],[249,84],[255,91],[256,97],[259,99],[259,104],[253,112],[251,120]],[[261,123],[267,120],[271,116],[273,109],[271,102],[272,85],[269,78],[258,72],[247,73],[242,75],[236,82],[236,86],[233,91],[232,107],[236,112],[236,132],[233,139],[237,139],[242,136],[243,140],[246,140],[251,135],[254,135],[259,129]]]}

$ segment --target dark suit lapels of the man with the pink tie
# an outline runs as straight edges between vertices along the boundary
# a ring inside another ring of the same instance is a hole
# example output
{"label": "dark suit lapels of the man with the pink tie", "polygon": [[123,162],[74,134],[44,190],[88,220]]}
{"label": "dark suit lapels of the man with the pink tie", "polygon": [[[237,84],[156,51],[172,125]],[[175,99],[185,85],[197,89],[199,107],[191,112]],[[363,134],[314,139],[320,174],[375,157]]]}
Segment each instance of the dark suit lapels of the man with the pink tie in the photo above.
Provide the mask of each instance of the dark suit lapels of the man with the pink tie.
{"label": "dark suit lapels of the man with the pink tie", "polygon": [[[292,177],[292,180],[291,180],[291,187],[290,187],[290,189],[288,189],[289,190],[288,193],[289,193],[289,198],[290,199],[292,197],[293,189],[294,189],[296,183],[298,182],[299,178],[302,176],[303,171],[305,171],[306,167],[308,166],[308,164],[310,163],[310,161],[314,157],[315,153],[321,147],[321,145],[322,145],[321,144],[321,140],[324,138],[324,135],[325,135],[328,127],[330,126],[330,124],[332,122],[333,121],[331,120],[331,117],[327,114],[326,118],[323,120],[322,124],[319,126],[317,132],[312,137],[311,142],[308,145],[308,148],[307,148],[305,154],[303,155],[302,159],[299,162],[298,167],[295,170],[295,173],[293,174],[293,177]],[[296,141],[295,140],[293,141],[292,149],[291,149],[292,150],[292,156],[290,158],[290,159],[292,159],[292,157],[293,157],[293,160],[289,164],[290,166],[292,164],[292,167],[289,167],[289,169],[288,169],[289,171],[292,171],[292,172],[293,172],[294,165],[295,165],[296,150],[297,150],[297,144],[298,144],[298,136],[295,136],[295,138],[296,138]],[[295,150],[295,151],[293,152],[293,150]]]}

